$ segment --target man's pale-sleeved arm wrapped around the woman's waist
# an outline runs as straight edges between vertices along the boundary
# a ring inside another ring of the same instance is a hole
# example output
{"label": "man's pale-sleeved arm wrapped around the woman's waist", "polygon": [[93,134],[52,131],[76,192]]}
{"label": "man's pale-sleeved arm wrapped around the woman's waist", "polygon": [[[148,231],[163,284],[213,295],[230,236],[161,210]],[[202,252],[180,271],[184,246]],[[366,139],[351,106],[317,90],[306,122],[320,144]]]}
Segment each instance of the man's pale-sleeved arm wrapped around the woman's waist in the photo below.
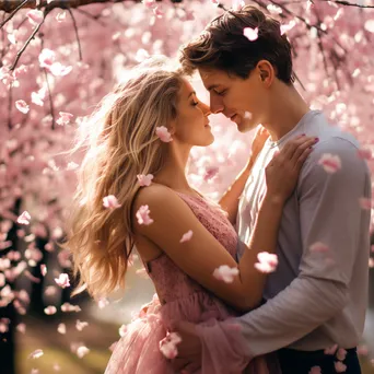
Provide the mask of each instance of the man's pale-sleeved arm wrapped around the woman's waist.
{"label": "man's pale-sleeved arm wrapped around the woman's waist", "polygon": [[[339,157],[341,167],[336,173],[326,172],[319,164],[326,154]],[[369,256],[369,248],[358,245],[360,235],[369,235],[369,220],[363,221],[367,211],[360,206],[361,198],[371,197],[367,165],[349,141],[326,140],[305,162],[296,194],[303,245],[299,277],[265,305],[236,319],[244,338],[241,344],[232,343],[232,329],[225,323],[217,323],[210,330],[199,329],[206,357],[215,354],[214,336],[226,336],[231,341],[227,347],[235,349],[227,350],[225,359],[252,359],[276,351],[301,339],[347,305],[357,253],[367,250]],[[367,231],[363,232],[362,222],[366,221]],[[322,244],[327,250],[322,250]]]}

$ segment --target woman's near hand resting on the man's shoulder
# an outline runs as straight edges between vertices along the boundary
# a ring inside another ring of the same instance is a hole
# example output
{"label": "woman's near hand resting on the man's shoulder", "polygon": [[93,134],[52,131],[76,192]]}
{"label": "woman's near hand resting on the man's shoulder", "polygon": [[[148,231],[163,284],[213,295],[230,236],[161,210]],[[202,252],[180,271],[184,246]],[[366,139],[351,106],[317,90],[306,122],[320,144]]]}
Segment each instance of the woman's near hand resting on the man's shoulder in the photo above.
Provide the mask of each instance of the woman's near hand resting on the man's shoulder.
{"label": "woman's near hand resting on the man's shoulder", "polygon": [[284,202],[296,187],[302,166],[318,138],[301,136],[290,140],[266,167],[267,195]]}

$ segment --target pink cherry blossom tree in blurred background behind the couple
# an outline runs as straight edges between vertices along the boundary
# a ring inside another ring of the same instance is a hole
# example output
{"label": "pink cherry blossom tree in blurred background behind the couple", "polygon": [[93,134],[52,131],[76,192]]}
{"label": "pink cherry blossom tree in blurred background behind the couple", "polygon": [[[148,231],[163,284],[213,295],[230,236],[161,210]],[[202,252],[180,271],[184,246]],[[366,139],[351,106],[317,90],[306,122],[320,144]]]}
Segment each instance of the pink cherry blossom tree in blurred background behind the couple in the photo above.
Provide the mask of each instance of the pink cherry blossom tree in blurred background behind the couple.
{"label": "pink cherry blossom tree in blurred background behind the couple", "polygon": [[[176,57],[212,17],[243,3],[281,21],[299,90],[361,141],[373,167],[372,0],[0,0],[0,335],[9,347],[32,293],[15,281],[49,293],[68,287],[60,272],[69,258],[55,243],[63,236],[80,159],[63,152],[87,131],[86,116],[132,66],[150,55]],[[221,116],[212,122],[217,141],[194,149],[189,178],[218,198],[245,164],[250,136]],[[50,258],[58,259],[51,269]]]}

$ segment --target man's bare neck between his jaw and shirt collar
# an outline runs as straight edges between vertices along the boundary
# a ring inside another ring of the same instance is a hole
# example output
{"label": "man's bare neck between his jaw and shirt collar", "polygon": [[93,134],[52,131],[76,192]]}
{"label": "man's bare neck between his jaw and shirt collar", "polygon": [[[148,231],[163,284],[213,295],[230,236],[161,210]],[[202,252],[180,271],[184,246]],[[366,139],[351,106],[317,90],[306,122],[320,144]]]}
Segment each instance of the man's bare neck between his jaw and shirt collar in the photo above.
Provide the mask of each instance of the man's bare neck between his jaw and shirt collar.
{"label": "man's bare neck between his jaw and shirt collar", "polygon": [[264,127],[269,131],[271,140],[278,141],[290,132],[311,109],[303,97],[294,89],[283,83],[273,89],[274,100]]}

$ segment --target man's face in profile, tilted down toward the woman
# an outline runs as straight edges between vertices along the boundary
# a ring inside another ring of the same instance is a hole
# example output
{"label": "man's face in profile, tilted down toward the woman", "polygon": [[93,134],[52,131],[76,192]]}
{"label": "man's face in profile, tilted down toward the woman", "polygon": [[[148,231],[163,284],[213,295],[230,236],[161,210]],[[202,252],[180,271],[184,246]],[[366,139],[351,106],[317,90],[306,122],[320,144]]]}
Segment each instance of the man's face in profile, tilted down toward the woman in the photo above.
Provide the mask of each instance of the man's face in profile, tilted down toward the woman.
{"label": "man's face in profile, tilted down toward the woman", "polygon": [[222,113],[246,132],[265,120],[268,93],[257,69],[247,79],[229,75],[217,69],[199,69],[203,85],[210,93],[210,109]]}

